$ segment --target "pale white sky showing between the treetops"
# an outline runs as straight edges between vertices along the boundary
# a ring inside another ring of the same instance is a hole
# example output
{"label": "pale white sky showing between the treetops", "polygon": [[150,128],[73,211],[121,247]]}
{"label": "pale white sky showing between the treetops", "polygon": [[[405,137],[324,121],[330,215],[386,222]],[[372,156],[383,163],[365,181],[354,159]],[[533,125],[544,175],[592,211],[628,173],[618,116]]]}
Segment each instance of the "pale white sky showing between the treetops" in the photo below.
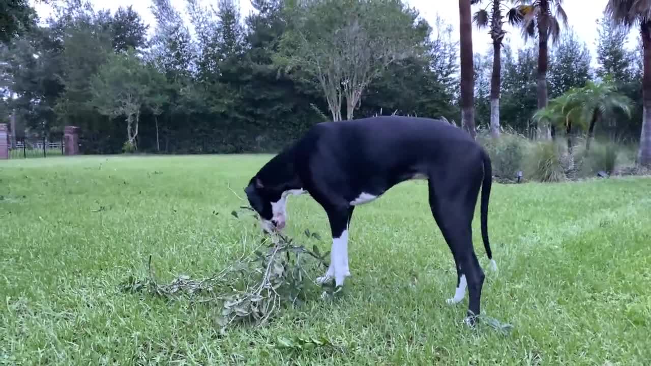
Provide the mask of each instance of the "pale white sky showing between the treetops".
{"label": "pale white sky showing between the treetops", "polygon": [[[434,26],[434,21],[436,20],[436,14],[439,14],[441,18],[454,27],[454,36],[458,40],[458,23],[459,23],[459,7],[458,1],[456,0],[405,0],[410,7],[416,8],[419,10],[421,17]],[[109,8],[111,12],[117,10],[118,7],[127,7],[132,5],[133,9],[141,14],[143,21],[146,24],[150,25],[149,31],[153,31],[156,25],[156,20],[150,10],[151,1],[150,0],[92,0],[95,10],[100,8]],[[171,3],[176,7],[176,9],[184,15],[184,18],[187,18],[186,12],[186,0],[171,0]],[[217,1],[215,0],[200,0],[200,3],[204,6],[208,6],[211,3],[217,7]],[[445,3],[445,4],[442,4]],[[488,5],[488,1],[484,1]],[[590,3],[590,6],[587,7],[586,3]],[[587,47],[592,52],[592,63],[594,64],[594,59],[596,57],[596,39],[598,36],[596,21],[602,17],[603,10],[605,9],[607,0],[565,0],[564,9],[568,16],[568,25],[572,27],[577,33],[577,36],[580,40],[587,44]],[[482,6],[486,6],[482,5]],[[36,4],[36,10],[38,11],[39,16],[46,18],[49,14],[49,6],[42,3]],[[477,10],[478,6],[473,6],[473,12]],[[246,16],[251,12],[253,8],[249,0],[240,0],[240,11],[242,16]],[[189,25],[189,21],[187,21]],[[189,25],[191,27],[191,25]],[[513,31],[508,25],[505,25],[507,31]],[[633,46],[631,41],[635,40],[637,32],[635,29],[631,31],[628,44],[629,47]],[[534,40],[529,40],[529,42],[534,42]],[[521,38],[519,31],[516,29],[512,33],[506,35],[505,43],[508,43],[512,46],[513,49],[520,48],[523,46],[524,41]],[[478,30],[476,27],[473,27],[473,51],[486,53],[492,49],[491,39],[488,35],[486,29]]]}

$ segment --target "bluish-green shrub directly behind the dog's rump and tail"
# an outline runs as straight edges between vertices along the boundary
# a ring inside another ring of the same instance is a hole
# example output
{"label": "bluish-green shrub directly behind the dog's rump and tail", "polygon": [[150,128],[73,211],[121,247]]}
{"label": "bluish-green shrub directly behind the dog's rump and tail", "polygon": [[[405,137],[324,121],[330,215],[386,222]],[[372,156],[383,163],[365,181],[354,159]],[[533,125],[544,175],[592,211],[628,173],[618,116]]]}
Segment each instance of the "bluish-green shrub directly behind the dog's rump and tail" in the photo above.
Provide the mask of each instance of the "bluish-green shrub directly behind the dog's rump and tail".
{"label": "bluish-green shrub directly behind the dog's rump and tail", "polygon": [[493,163],[493,174],[511,180],[522,170],[523,158],[531,143],[515,133],[503,133],[498,139],[482,135],[480,143],[486,148]]}

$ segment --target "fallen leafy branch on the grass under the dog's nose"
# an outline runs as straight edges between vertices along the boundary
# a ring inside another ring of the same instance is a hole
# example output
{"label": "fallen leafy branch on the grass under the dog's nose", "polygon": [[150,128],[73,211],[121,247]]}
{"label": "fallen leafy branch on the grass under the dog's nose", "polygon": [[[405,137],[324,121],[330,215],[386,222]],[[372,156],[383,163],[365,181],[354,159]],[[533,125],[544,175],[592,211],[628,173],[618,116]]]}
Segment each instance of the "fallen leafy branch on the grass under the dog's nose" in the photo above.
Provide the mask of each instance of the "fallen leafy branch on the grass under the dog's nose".
{"label": "fallen leafy branch on the grass under the dog's nose", "polygon": [[[248,206],[240,207],[252,212]],[[236,218],[240,214],[232,212]],[[320,240],[316,232],[305,231],[308,238]],[[244,239],[247,234],[245,231]],[[264,249],[263,249],[264,248]],[[307,256],[303,255],[307,254]],[[225,330],[235,322],[266,324],[286,303],[296,307],[305,295],[306,279],[311,282],[306,258],[314,259],[320,270],[327,268],[329,252],[321,254],[315,245],[312,250],[294,244],[294,240],[281,233],[263,236],[253,253],[243,253],[239,260],[210,277],[191,279],[187,275],[176,277],[171,283],[160,284],[148,260],[148,277],[137,280],[130,276],[121,284],[122,290],[143,292],[173,300],[189,298],[197,303],[219,303],[221,316],[218,324]]]}

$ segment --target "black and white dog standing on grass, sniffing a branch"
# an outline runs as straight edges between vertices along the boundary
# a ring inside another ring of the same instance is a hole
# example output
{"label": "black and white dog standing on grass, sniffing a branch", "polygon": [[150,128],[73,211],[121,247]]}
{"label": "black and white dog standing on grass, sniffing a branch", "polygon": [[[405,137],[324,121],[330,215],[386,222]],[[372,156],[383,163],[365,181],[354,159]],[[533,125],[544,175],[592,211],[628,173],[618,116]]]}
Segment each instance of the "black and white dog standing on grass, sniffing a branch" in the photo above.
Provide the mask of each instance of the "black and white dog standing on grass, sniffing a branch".
{"label": "black and white dog standing on grass, sniffing a branch", "polygon": [[484,283],[471,232],[480,187],[482,239],[496,266],[487,224],[491,162],[467,132],[441,120],[400,116],[322,122],[266,163],[245,192],[268,233],[284,228],[290,194],[309,193],[326,210],[330,265],[317,283],[334,278],[339,287],[350,275],[348,227],[355,206],[411,179],[428,180],[432,215],[454,257],[457,287],[447,303],[462,301],[468,287],[474,324]]}

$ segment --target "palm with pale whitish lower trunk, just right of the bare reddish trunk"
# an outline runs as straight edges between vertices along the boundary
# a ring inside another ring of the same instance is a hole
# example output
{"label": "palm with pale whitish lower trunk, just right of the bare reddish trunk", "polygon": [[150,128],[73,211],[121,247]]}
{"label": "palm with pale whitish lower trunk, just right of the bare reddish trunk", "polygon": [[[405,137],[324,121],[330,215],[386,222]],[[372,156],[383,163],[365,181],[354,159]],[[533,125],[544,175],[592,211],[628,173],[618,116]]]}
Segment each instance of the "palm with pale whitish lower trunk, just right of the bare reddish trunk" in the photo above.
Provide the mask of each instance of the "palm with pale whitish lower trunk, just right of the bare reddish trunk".
{"label": "palm with pale whitish lower trunk, just right of the bare reddish trunk", "polygon": [[[472,4],[482,3],[484,0],[473,0]],[[488,27],[491,39],[493,40],[493,71],[490,79],[490,130],[493,137],[499,137],[499,91],[501,87],[501,50],[502,42],[506,31],[502,25],[506,22],[502,13],[503,3],[505,0],[490,0],[492,5],[490,12],[488,7],[479,9],[473,16],[473,21],[478,29]],[[518,19],[516,8],[505,9],[508,14],[508,22],[515,24]]]}

